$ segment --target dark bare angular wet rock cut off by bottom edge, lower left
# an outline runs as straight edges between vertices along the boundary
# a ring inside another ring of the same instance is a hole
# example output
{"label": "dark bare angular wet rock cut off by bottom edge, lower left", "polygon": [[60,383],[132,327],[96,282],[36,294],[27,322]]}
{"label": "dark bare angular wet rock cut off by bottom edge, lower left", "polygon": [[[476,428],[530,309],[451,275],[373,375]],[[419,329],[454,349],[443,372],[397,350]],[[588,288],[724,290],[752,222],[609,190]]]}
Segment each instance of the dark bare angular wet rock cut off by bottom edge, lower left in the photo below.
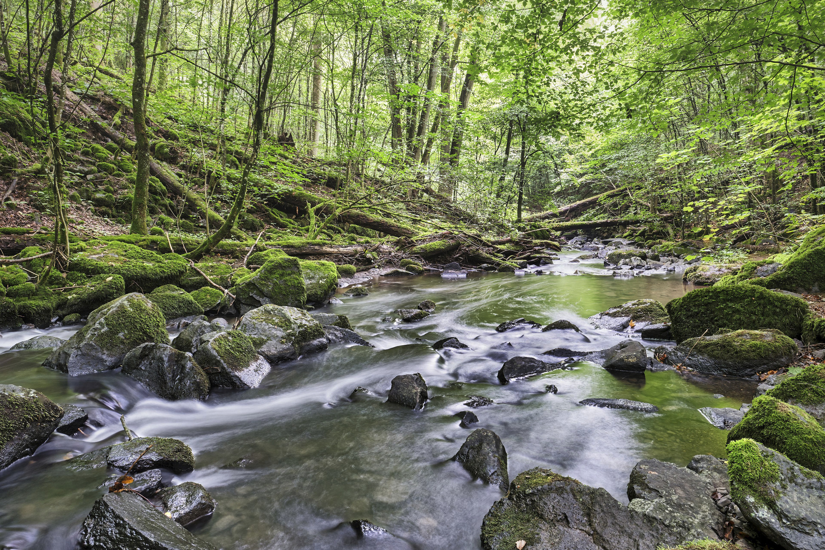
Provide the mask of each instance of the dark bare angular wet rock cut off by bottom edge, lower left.
{"label": "dark bare angular wet rock cut off by bottom edge, lower left", "polygon": [[130,492],[101,496],[83,521],[82,550],[214,550]]}

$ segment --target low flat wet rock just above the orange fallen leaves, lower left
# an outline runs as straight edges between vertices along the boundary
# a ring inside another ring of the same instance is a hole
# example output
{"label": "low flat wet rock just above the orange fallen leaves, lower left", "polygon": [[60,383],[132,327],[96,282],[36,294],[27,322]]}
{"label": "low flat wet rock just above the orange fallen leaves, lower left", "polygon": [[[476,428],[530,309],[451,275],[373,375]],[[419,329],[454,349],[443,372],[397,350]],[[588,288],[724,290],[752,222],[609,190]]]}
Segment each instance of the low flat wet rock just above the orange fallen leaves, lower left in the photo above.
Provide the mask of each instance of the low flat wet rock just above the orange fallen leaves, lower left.
{"label": "low flat wet rock just above the orange fallen leaves, lower left", "polygon": [[77,470],[108,466],[121,472],[128,472],[130,468],[133,473],[166,468],[175,473],[185,473],[195,469],[195,455],[192,454],[189,445],[181,440],[168,437],[136,437],[125,443],[79,454],[69,459],[68,465]]}

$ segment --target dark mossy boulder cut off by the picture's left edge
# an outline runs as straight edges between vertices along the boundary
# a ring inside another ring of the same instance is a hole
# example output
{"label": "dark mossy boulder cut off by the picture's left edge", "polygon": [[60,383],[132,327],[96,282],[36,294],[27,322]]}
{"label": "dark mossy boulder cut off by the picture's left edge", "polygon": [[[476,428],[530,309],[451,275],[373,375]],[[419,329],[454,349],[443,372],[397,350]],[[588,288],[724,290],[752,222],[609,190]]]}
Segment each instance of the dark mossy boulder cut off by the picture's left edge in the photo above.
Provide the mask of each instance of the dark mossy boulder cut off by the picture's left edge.
{"label": "dark mossy boulder cut off by the picture's left edge", "polygon": [[63,409],[42,393],[0,384],[0,470],[33,454],[62,417]]}

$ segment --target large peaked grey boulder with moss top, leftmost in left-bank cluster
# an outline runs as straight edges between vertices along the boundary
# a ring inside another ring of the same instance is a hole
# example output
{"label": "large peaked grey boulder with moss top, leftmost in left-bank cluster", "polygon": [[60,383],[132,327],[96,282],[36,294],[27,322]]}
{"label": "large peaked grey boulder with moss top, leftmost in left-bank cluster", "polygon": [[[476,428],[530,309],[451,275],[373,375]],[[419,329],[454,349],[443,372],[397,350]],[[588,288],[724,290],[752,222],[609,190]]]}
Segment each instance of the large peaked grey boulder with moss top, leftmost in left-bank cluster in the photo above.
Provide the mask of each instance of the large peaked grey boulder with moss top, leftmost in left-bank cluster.
{"label": "large peaked grey boulder with moss top, leftmost in left-bank cluster", "polygon": [[143,294],[126,294],[90,313],[87,324],[43,366],[72,376],[115,369],[130,350],[145,342],[169,343],[166,317]]}

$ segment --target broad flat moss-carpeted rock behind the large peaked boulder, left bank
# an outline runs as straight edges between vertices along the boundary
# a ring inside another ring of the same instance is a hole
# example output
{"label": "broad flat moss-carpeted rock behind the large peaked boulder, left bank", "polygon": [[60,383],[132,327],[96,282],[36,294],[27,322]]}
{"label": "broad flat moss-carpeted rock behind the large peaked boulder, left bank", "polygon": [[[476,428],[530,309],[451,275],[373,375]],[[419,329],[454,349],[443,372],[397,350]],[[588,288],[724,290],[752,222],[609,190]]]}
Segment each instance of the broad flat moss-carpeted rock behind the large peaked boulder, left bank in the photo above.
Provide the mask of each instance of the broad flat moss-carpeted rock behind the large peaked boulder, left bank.
{"label": "broad flat moss-carpeted rock behind the large peaked boulder, left bank", "polygon": [[120,275],[127,291],[150,292],[163,284],[175,284],[189,269],[189,262],[174,253],[161,255],[117,241],[89,241],[87,245],[85,251],[72,256],[68,269],[86,275]]}

